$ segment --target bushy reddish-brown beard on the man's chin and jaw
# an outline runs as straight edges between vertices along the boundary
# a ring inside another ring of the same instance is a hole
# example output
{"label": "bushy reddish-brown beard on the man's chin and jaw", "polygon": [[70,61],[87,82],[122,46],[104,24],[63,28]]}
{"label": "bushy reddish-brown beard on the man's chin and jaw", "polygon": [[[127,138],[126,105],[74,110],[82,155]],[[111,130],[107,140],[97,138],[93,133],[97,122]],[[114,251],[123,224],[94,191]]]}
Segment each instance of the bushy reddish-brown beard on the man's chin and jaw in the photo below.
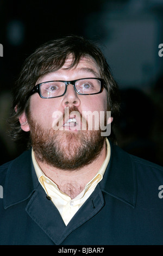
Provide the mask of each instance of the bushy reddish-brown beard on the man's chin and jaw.
{"label": "bushy reddish-brown beard on the man's chin and jaw", "polygon": [[[77,111],[71,108],[71,111]],[[81,115],[82,116],[82,115]],[[99,130],[45,129],[28,117],[30,139],[36,159],[62,170],[77,170],[95,161],[104,146],[105,137]]]}

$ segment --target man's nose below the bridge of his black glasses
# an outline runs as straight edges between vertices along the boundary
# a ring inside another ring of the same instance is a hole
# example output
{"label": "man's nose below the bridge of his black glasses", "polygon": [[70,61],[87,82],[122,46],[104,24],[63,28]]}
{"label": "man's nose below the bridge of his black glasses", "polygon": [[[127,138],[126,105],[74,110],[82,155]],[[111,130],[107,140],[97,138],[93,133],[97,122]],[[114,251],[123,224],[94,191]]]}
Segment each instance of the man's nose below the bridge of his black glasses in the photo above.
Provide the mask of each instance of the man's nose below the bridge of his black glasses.
{"label": "man's nose below the bridge of his black glasses", "polygon": [[78,97],[76,90],[74,89],[72,84],[68,84],[66,94],[64,95],[64,98],[62,100],[62,106],[63,107],[72,107],[72,106],[79,107],[79,105],[80,105],[80,99]]}

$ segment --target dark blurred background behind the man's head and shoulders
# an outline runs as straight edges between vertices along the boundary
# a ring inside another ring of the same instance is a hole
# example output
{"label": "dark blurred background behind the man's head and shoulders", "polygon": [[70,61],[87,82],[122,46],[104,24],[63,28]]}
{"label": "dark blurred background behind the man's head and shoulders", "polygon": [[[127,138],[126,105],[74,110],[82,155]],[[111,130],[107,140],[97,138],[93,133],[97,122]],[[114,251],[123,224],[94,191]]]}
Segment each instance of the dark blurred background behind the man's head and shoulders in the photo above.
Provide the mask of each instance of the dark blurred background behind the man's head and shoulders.
{"label": "dark blurred background behind the man's head and shoulders", "polygon": [[99,42],[119,84],[118,145],[163,165],[162,14],[163,0],[0,0],[0,164],[21,153],[5,120],[23,60],[43,42],[77,34]]}

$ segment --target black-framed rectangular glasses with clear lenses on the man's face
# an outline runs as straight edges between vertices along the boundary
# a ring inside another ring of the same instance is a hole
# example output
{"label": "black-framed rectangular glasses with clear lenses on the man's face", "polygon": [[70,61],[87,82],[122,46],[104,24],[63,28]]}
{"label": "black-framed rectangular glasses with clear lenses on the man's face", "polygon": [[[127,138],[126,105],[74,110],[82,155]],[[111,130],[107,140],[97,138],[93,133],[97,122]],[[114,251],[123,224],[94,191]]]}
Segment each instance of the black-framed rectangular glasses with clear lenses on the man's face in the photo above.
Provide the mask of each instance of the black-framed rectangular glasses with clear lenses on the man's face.
{"label": "black-framed rectangular glasses with clear lenses on the man's face", "polygon": [[41,98],[49,99],[65,95],[68,84],[72,84],[74,90],[80,95],[101,93],[104,89],[102,78],[82,78],[73,81],[47,81],[36,84],[29,96],[38,93]]}

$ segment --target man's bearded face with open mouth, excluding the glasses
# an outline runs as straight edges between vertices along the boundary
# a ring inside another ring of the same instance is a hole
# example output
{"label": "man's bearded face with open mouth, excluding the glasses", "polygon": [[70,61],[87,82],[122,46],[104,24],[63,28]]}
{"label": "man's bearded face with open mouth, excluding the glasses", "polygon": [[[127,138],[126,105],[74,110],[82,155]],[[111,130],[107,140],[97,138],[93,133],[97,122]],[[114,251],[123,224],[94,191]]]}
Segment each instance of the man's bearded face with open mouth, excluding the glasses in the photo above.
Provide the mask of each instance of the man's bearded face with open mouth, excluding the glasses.
{"label": "man's bearded face with open mouth, excluding the glasses", "polygon": [[[100,77],[97,64],[89,57],[83,57],[77,66],[67,69],[71,63],[70,57],[61,69],[39,78],[37,83]],[[88,130],[92,120],[86,113],[96,111],[100,117],[100,112],[106,112],[107,107],[105,89],[96,95],[79,95],[72,84],[69,84],[66,94],[61,97],[42,99],[37,93],[32,95],[30,97],[30,115],[25,130],[30,130],[36,158],[51,166],[69,170],[81,168],[96,159],[104,147],[105,138],[101,136],[100,129]],[[65,117],[66,109],[69,109],[69,112],[66,112],[69,113],[69,117],[67,115]],[[74,115],[74,111],[79,115]],[[63,123],[58,126],[62,115],[64,115]],[[70,123],[65,124],[67,119],[70,119]],[[83,123],[86,123],[87,127],[84,130]],[[57,130],[56,127],[60,127],[60,129]]]}

